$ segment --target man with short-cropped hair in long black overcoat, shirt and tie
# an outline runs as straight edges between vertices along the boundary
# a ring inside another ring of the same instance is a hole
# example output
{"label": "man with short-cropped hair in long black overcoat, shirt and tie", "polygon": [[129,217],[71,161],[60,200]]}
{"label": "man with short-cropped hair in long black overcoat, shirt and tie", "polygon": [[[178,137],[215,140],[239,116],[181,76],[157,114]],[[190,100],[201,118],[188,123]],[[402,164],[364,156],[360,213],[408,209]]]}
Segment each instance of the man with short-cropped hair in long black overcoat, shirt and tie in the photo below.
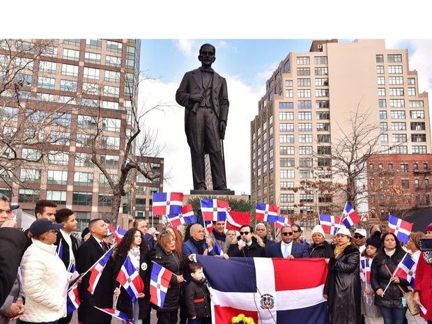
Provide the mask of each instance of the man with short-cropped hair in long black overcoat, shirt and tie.
{"label": "man with short-cropped hair in long black overcoat, shirt and tie", "polygon": [[[91,236],[77,251],[77,271],[79,273],[86,272],[107,252],[106,245],[102,240],[107,236],[107,224],[105,224],[103,219],[91,220],[88,224],[88,229]],[[78,318],[83,324],[109,324],[111,323],[111,316],[102,313],[102,311],[95,309],[93,306],[100,308],[113,307],[114,288],[112,286],[111,269],[108,265],[105,267],[93,295],[87,290],[89,279],[90,273],[87,273],[78,285],[79,300],[81,300],[81,305],[78,309]]]}

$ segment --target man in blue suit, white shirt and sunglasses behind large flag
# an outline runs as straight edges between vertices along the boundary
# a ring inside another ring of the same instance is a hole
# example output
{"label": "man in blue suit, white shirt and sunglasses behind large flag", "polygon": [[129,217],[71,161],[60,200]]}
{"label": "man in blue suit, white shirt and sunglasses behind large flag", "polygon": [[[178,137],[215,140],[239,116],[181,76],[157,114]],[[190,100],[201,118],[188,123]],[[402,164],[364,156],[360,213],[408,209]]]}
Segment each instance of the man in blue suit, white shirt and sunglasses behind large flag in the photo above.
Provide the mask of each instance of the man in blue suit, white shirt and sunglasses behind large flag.
{"label": "man in blue suit, white shirt and sunglasses behind large flag", "polygon": [[307,248],[293,240],[291,226],[284,226],[281,229],[282,240],[268,249],[269,258],[285,258],[288,260],[307,258]]}

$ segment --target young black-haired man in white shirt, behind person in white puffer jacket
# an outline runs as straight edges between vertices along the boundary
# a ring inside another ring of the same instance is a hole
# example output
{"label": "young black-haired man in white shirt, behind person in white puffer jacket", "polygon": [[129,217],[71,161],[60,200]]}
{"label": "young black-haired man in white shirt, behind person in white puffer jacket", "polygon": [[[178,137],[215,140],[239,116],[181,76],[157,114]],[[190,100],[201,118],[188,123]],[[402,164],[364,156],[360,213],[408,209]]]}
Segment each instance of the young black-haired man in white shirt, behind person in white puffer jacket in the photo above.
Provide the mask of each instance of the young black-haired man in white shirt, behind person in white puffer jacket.
{"label": "young black-haired man in white shirt, behind person in white puffer jacket", "polygon": [[[63,229],[59,229],[55,245],[57,246],[57,253],[61,261],[65,264],[65,268],[69,269],[69,265],[74,263],[76,265],[75,256],[77,255],[78,240],[75,236],[71,235],[73,231],[77,230],[77,219],[72,210],[62,208],[56,212],[56,222],[63,224]],[[72,319],[72,314],[59,319],[59,324],[68,324]]]}

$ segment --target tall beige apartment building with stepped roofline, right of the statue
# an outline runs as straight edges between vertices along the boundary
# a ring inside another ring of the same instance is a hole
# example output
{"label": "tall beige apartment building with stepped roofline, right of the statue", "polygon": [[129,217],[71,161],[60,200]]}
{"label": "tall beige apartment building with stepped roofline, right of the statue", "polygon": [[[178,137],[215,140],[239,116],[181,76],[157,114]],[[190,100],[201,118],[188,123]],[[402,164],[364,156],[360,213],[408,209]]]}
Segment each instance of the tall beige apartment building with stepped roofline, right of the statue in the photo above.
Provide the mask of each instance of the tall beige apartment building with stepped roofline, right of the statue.
{"label": "tall beige apartment building with stepped roofline, right of the statue", "polygon": [[325,213],[331,196],[298,187],[334,181],[331,144],[350,134],[357,106],[380,125],[382,153],[431,153],[428,95],[418,86],[408,50],[384,40],[314,40],[309,52],[288,54],[251,122],[252,199],[277,204],[281,215]]}

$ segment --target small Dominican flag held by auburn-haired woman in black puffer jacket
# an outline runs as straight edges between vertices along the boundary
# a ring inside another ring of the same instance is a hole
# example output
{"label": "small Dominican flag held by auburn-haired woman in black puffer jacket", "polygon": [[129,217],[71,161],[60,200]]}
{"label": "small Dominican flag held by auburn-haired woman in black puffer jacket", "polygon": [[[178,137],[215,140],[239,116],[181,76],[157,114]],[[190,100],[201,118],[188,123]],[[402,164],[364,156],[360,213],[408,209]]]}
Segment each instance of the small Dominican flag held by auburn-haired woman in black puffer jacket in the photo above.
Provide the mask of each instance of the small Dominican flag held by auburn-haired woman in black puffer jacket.
{"label": "small Dominican flag held by auburn-haired woman in black puffer jacket", "polygon": [[150,279],[150,302],[152,304],[164,308],[165,295],[171,277],[173,277],[173,272],[153,262]]}

